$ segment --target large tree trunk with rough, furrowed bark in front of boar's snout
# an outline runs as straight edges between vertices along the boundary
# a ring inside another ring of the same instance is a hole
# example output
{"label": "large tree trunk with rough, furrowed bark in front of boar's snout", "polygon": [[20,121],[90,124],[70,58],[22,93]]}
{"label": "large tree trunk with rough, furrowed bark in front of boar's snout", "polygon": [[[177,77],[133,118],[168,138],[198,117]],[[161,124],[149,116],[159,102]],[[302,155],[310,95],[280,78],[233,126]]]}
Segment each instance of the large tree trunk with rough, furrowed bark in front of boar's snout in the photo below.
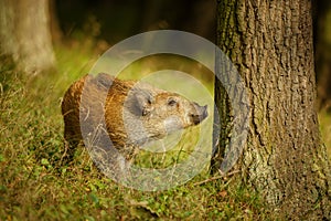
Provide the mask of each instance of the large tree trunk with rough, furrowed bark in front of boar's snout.
{"label": "large tree trunk with rough, furrowed bark in front of boar's snout", "polygon": [[[330,166],[316,112],[312,43],[308,0],[218,1],[217,45],[237,67],[250,106],[248,138],[236,167],[275,214],[287,220],[331,219]],[[222,74],[220,65],[216,74]],[[215,81],[223,125],[213,171],[228,144],[228,96],[235,94],[226,95]]]}

